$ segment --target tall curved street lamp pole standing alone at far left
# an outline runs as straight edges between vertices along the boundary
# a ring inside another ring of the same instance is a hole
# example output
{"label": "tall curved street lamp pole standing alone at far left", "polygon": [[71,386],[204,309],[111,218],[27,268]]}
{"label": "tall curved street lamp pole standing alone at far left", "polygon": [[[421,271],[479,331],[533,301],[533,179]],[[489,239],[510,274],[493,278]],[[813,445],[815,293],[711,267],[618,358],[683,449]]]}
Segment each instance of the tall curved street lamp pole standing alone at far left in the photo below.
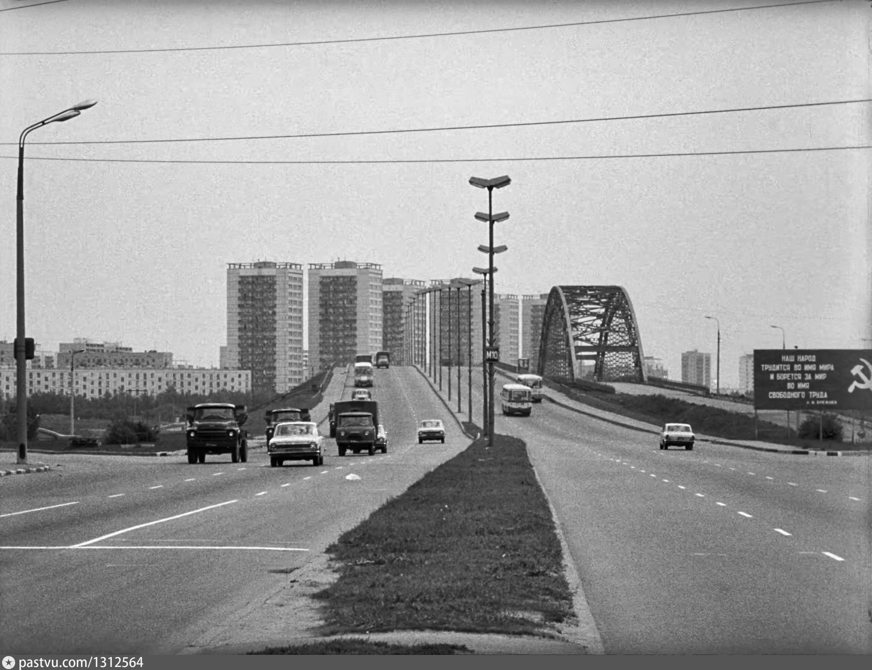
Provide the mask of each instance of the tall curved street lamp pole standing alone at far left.
{"label": "tall curved street lamp pole standing alone at far left", "polygon": [[17,247],[17,277],[16,277],[16,301],[17,301],[17,330],[16,330],[16,392],[17,392],[17,434],[18,434],[18,463],[27,463],[27,359],[24,352],[24,140],[31,131],[43,125],[68,121],[78,117],[83,110],[97,105],[96,100],[85,100],[78,105],[65,109],[63,112],[44,118],[33,125],[28,125],[18,138],[18,191],[16,206],[16,247]]}

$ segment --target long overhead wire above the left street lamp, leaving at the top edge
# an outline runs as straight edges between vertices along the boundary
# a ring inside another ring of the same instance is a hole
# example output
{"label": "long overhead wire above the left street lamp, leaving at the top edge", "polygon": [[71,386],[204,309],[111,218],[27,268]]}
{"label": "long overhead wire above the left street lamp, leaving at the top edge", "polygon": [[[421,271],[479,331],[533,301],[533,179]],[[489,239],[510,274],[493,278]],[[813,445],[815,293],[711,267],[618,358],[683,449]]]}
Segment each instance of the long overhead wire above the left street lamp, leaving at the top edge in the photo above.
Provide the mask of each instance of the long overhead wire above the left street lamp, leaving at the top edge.
{"label": "long overhead wire above the left street lamp, leaving at the top edge", "polygon": [[700,14],[723,14],[730,11],[767,10],[773,7],[791,7],[794,4],[834,3],[841,0],[802,0],[799,3],[760,4],[753,7],[734,7],[726,10],[683,11],[676,14],[655,14],[650,17],[604,18],[598,21],[576,21],[571,24],[525,25],[514,28],[490,28],[487,30],[457,30],[453,32],[431,32],[419,35],[394,35],[389,37],[356,37],[353,39],[324,39],[310,42],[277,42],[272,44],[233,44],[230,46],[189,46],[174,49],[106,49],[95,51],[6,51],[0,56],[73,56],[95,53],[157,53],[166,51],[218,51],[221,49],[268,49],[272,47],[311,46],[317,44],[350,44],[354,42],[382,42],[395,39],[423,39],[426,37],[453,37],[457,35],[481,35],[489,32],[510,32],[517,30],[545,30],[549,28],[570,28],[579,25],[618,24],[628,21],[650,21],[656,18],[692,17]]}

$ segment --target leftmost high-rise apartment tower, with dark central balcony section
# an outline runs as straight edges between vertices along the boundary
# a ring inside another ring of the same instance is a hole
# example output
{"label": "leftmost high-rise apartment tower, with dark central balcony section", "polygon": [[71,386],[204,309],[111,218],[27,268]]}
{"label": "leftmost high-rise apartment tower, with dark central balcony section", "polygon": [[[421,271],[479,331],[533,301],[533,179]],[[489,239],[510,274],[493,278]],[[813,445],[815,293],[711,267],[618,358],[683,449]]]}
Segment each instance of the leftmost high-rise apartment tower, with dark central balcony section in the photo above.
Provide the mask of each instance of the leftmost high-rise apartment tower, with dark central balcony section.
{"label": "leftmost high-rise apartment tower, with dark central balcony section", "polygon": [[303,266],[228,263],[227,346],[222,369],[251,371],[255,393],[303,382]]}

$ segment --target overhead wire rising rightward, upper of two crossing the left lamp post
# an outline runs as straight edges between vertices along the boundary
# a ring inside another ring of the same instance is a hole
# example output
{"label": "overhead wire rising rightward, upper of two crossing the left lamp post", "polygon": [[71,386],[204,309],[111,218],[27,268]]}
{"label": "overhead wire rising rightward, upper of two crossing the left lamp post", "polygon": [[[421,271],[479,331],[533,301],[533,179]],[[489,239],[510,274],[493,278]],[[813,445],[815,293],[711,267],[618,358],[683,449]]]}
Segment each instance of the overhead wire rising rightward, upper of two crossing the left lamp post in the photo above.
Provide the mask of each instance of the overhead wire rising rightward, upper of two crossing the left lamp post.
{"label": "overhead wire rising rightward, upper of two crossing the left lamp post", "polygon": [[[464,130],[488,130],[494,128],[522,128],[533,125],[561,125],[582,124],[600,121],[630,121],[642,118],[669,118],[683,116],[702,116],[704,114],[727,114],[733,112],[760,112],[777,109],[795,109],[798,107],[821,107],[825,105],[855,105],[858,103],[872,102],[872,98],[860,98],[857,100],[833,100],[830,102],[797,103],[795,105],[765,105],[760,107],[733,107],[732,109],[702,110],[698,112],[664,112],[661,114],[633,114],[630,116],[616,117],[591,117],[591,118],[568,118],[556,121],[527,121],[508,124],[479,124],[479,125],[440,125],[429,128],[394,128],[383,131],[348,131],[348,132],[300,132],[292,135],[238,135],[235,137],[213,138],[177,138],[177,139],[98,139],[85,141],[58,141],[58,142],[28,142],[33,145],[122,145],[122,144],[158,144],[161,142],[230,142],[243,139],[303,139],[303,138],[331,138],[350,137],[355,135],[387,135],[403,132],[446,132]],[[0,142],[0,146],[16,145],[15,142]]]}

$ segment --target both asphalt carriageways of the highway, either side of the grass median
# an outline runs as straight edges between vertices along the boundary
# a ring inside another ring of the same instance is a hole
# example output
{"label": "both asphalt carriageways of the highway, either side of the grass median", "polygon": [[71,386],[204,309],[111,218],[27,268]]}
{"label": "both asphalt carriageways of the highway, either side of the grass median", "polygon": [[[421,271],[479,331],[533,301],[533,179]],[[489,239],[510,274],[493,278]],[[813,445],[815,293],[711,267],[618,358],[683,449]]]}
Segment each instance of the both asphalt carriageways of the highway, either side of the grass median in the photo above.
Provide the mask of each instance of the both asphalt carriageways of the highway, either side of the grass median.
{"label": "both asphalt carriageways of the highway, either side of the grass median", "polygon": [[[328,396],[347,398],[336,383]],[[386,455],[340,458],[328,439],[323,467],[270,468],[255,450],[247,464],[83,457],[4,478],[3,648],[174,653],[262,602],[467,445],[419,372],[377,370],[373,396]],[[445,421],[444,446],[417,443],[426,417]],[[548,402],[496,427],[528,443],[606,653],[872,652],[867,457],[662,451]]]}

